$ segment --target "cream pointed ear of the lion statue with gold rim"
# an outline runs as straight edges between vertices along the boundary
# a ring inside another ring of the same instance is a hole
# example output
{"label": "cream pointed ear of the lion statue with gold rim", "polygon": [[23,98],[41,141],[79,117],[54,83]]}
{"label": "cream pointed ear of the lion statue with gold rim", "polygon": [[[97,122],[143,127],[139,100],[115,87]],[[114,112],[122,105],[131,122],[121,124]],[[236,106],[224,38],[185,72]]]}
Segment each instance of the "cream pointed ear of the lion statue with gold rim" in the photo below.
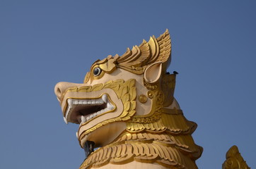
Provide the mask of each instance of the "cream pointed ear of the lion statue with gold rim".
{"label": "cream pointed ear of the lion statue with gold rim", "polygon": [[157,82],[161,77],[161,73],[162,73],[162,63],[161,62],[153,63],[149,65],[148,68],[146,68],[144,72],[144,79],[146,80],[146,82],[149,82],[149,83]]}

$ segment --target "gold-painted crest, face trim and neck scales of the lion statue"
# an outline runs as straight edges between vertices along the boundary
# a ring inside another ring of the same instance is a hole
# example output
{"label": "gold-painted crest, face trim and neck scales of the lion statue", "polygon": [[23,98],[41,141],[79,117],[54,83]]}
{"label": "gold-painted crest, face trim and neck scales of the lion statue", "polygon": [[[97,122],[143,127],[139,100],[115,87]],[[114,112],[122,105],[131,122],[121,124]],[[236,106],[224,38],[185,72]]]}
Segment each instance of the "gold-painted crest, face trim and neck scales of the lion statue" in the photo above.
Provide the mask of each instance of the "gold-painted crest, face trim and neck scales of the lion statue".
{"label": "gold-painted crest, face trim and neck scales of the lion statue", "polygon": [[[132,161],[158,163],[173,169],[197,169],[195,160],[202,155],[202,147],[194,144],[192,139],[192,133],[197,128],[197,124],[187,120],[180,109],[169,108],[173,103],[175,89],[175,75],[165,74],[170,63],[170,51],[170,35],[166,30],[158,38],[153,36],[149,42],[143,40],[132,50],[128,48],[122,56],[107,56],[102,61],[96,61],[91,66],[91,75],[88,75],[90,77],[86,76],[86,80],[91,78],[92,82],[92,70],[98,66],[105,73],[112,73],[121,68],[134,73],[137,77],[137,75],[142,75],[149,65],[161,63],[161,77],[157,82],[146,82],[142,77],[139,81],[140,84],[143,82],[149,90],[147,96],[151,99],[151,109],[149,112],[143,112],[144,115],[135,115],[137,104],[135,79],[126,82],[110,80],[103,84],[66,90],[66,92],[93,92],[109,88],[117,94],[117,98],[124,106],[124,111],[117,118],[104,120],[80,134],[81,144],[81,139],[86,137],[86,134],[103,125],[115,121],[126,122],[126,130],[110,144],[88,156],[80,169],[99,168],[108,163],[118,165]],[[143,97],[146,96],[139,96],[139,101],[144,101]]]}

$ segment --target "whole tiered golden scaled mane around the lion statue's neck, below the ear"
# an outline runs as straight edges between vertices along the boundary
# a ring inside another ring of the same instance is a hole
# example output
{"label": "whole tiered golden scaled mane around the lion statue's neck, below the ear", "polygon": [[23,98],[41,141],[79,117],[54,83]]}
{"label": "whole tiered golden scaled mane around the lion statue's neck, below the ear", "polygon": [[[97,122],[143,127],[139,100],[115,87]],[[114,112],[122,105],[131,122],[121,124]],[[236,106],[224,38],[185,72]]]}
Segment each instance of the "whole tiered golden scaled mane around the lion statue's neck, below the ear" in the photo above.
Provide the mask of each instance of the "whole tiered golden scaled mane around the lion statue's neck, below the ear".
{"label": "whole tiered golden scaled mane around the lion statue's neck, below the ear", "polygon": [[194,144],[191,136],[197,124],[186,120],[181,110],[163,108],[163,94],[159,90],[151,92],[156,99],[154,113],[133,116],[127,121],[127,130],[112,144],[88,156],[80,169],[131,161],[197,168],[194,160],[201,156],[202,147]]}

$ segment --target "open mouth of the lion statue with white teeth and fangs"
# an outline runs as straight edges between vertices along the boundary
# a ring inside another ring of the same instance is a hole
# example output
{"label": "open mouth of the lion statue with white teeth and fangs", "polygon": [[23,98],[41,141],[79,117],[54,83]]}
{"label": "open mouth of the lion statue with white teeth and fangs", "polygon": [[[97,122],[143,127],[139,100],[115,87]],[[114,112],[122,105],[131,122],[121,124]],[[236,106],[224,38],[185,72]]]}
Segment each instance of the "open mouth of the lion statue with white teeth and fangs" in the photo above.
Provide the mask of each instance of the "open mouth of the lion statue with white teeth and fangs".
{"label": "open mouth of the lion statue with white teeth and fangs", "polygon": [[67,104],[64,121],[80,125],[115,109],[107,94],[98,99],[67,99]]}

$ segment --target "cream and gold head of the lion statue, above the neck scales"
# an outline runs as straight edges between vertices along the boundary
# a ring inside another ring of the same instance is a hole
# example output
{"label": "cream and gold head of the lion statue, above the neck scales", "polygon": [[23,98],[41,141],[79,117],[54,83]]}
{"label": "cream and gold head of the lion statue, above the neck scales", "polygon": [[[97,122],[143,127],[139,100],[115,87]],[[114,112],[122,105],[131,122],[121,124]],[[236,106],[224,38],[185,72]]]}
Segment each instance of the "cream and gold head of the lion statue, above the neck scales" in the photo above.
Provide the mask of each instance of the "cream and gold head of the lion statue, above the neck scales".
{"label": "cream and gold head of the lion statue, above the neck scales", "polygon": [[82,147],[86,141],[105,146],[127,130],[127,122],[150,119],[163,108],[180,108],[173,98],[175,74],[166,72],[170,52],[166,30],[158,38],[128,48],[122,56],[95,61],[82,84],[55,86],[64,121],[79,125]]}

